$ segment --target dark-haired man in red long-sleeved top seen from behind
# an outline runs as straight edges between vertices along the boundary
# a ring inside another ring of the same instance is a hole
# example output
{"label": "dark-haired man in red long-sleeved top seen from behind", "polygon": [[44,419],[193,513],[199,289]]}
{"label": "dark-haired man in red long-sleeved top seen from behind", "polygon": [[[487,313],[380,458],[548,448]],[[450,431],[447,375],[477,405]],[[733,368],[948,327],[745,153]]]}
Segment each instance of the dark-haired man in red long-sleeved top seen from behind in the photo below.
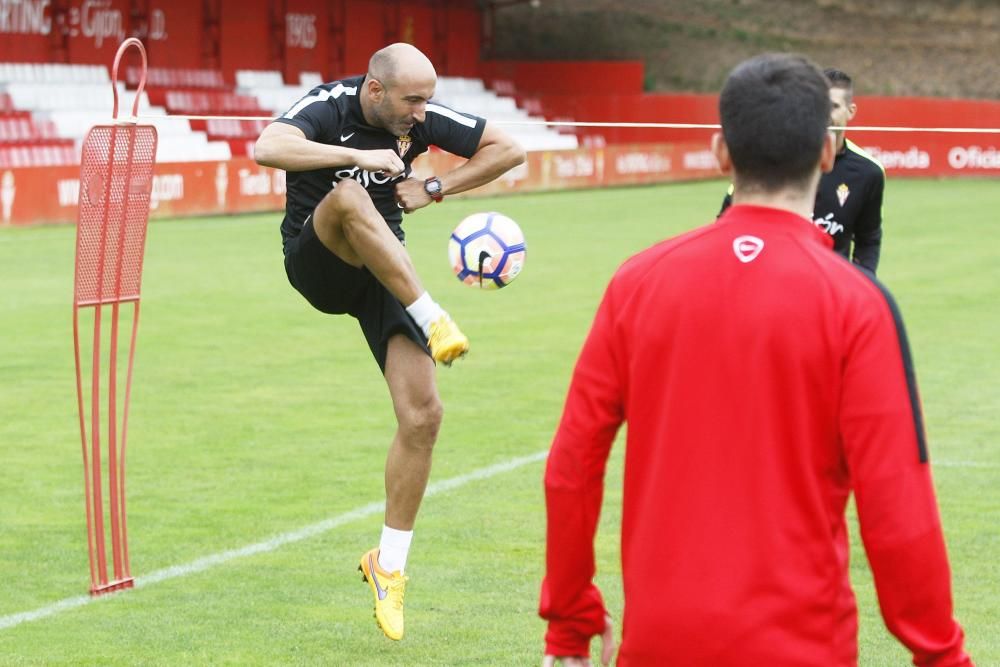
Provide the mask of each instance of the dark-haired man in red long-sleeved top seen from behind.
{"label": "dark-haired man in red long-sleeved top seen from behind", "polygon": [[852,491],[889,630],[916,665],[972,664],[899,311],[811,223],[829,105],[804,58],[739,65],[713,139],[733,206],[612,278],[545,471],[544,664],[615,648],[593,539],[623,423],[619,665],[856,665]]}

